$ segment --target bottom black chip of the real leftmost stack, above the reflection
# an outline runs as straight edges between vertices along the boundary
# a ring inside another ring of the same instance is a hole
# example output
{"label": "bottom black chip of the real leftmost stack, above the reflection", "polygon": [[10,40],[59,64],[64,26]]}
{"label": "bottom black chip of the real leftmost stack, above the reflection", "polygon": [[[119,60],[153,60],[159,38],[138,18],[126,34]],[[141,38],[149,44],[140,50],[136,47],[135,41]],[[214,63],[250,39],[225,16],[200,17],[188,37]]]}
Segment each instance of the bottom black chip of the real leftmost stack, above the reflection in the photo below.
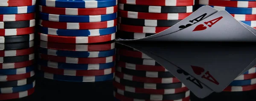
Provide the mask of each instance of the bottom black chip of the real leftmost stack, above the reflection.
{"label": "bottom black chip of the real leftmost stack, above the reflection", "polygon": [[34,34],[18,35],[18,36],[2,36],[0,43],[19,43],[34,40]]}

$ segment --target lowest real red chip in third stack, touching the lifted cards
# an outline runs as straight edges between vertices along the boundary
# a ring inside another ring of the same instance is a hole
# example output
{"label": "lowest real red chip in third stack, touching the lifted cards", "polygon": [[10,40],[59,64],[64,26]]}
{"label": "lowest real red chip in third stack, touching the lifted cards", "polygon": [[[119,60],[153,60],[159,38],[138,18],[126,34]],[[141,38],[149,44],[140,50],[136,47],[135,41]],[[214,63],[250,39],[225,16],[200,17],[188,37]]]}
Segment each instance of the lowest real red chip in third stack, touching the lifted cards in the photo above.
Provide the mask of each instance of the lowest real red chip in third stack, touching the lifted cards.
{"label": "lowest real red chip in third stack, touching the lifted cards", "polygon": [[138,33],[159,33],[170,27],[151,27],[151,26],[131,26],[118,23],[118,29],[127,32],[138,32]]}

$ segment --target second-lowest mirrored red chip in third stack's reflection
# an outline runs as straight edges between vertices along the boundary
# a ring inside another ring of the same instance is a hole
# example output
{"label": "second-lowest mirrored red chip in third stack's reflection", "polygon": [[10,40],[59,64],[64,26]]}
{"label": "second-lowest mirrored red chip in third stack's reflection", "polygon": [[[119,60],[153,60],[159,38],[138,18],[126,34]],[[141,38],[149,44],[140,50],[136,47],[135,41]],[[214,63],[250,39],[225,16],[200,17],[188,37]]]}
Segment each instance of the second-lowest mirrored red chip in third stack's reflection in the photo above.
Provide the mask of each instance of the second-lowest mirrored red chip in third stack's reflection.
{"label": "second-lowest mirrored red chip in third stack's reflection", "polygon": [[113,81],[113,86],[122,89],[128,92],[134,92],[134,93],[145,93],[145,94],[175,94],[180,92],[186,92],[189,89],[187,87],[182,88],[176,88],[176,89],[144,89],[144,88],[134,88],[129,86],[124,86],[122,84],[119,84],[116,81]]}

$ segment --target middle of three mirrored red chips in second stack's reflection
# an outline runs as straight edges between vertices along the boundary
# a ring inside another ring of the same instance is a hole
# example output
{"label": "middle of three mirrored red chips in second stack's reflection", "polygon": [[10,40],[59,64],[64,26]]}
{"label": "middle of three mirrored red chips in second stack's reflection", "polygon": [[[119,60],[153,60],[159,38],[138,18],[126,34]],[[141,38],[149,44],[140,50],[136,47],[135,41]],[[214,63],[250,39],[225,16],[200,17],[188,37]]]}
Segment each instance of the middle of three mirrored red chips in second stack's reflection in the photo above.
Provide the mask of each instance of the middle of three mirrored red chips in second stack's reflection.
{"label": "middle of three mirrored red chips in second stack's reflection", "polygon": [[116,56],[100,57],[100,58],[70,58],[60,57],[54,55],[39,54],[39,58],[61,63],[76,63],[76,64],[99,64],[99,63],[110,63],[116,60]]}

